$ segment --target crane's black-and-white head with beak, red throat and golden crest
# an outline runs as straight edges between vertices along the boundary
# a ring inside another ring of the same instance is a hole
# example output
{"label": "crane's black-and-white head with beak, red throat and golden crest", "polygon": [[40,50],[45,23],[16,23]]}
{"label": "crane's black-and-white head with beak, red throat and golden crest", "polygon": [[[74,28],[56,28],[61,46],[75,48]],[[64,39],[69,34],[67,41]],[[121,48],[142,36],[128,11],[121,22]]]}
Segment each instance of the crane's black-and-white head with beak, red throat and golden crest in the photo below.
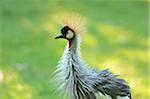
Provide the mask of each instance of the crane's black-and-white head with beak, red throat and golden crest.
{"label": "crane's black-and-white head with beak, red throat and golden crest", "polygon": [[61,18],[61,24],[63,28],[61,29],[61,34],[55,39],[66,39],[69,42],[69,48],[72,45],[76,44],[77,37],[79,34],[84,33],[85,28],[85,19],[78,14],[69,14]]}

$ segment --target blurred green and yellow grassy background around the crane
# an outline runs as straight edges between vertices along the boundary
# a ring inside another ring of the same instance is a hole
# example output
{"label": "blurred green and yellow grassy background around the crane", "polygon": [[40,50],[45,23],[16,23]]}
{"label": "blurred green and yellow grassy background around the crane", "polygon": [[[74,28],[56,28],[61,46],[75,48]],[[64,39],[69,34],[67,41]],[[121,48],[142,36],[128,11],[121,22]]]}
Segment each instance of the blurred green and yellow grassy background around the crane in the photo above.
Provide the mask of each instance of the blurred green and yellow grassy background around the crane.
{"label": "blurred green and yellow grassy background around the crane", "polygon": [[54,40],[58,13],[87,19],[82,56],[96,68],[120,74],[133,99],[148,99],[148,2],[1,0],[0,99],[61,99],[51,83],[66,41]]}

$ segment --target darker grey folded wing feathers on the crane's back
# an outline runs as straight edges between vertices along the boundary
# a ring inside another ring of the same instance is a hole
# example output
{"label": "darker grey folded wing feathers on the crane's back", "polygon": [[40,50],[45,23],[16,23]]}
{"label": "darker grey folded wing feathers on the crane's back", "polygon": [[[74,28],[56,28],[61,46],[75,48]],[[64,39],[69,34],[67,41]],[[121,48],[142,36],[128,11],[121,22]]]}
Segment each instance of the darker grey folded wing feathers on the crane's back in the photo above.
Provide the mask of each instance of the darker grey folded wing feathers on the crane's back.
{"label": "darker grey folded wing feathers on the crane's back", "polygon": [[[117,78],[108,70],[103,70],[99,73],[100,81],[94,85],[97,91],[102,94],[108,94],[112,99],[117,99],[117,96],[130,96],[130,88],[125,80]],[[131,99],[131,97],[130,97]]]}

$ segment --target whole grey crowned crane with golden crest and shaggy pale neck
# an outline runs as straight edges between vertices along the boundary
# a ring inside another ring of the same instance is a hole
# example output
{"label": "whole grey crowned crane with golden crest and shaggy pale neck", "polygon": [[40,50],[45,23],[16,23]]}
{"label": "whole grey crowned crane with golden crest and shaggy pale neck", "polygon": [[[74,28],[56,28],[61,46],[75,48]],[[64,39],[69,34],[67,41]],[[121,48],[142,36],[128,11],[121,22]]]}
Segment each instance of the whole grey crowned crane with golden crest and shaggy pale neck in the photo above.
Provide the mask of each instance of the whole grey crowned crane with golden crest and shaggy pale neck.
{"label": "whole grey crowned crane with golden crest and shaggy pale neck", "polygon": [[131,99],[130,87],[125,80],[108,69],[92,69],[83,61],[80,54],[80,34],[85,30],[83,18],[66,17],[62,23],[61,35],[55,39],[66,39],[68,45],[55,78],[64,96],[70,99]]}

